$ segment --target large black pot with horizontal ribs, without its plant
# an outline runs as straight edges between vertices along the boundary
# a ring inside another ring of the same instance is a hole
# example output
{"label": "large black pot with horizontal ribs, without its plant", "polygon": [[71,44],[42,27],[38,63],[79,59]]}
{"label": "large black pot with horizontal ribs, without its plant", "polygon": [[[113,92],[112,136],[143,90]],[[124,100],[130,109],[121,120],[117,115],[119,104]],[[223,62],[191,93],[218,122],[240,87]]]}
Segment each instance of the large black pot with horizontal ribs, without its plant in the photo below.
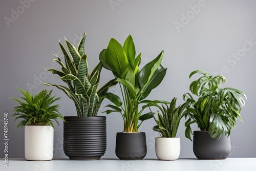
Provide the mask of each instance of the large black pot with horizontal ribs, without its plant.
{"label": "large black pot with horizontal ribs, without its plant", "polygon": [[65,116],[63,150],[70,160],[98,160],[106,151],[106,117]]}

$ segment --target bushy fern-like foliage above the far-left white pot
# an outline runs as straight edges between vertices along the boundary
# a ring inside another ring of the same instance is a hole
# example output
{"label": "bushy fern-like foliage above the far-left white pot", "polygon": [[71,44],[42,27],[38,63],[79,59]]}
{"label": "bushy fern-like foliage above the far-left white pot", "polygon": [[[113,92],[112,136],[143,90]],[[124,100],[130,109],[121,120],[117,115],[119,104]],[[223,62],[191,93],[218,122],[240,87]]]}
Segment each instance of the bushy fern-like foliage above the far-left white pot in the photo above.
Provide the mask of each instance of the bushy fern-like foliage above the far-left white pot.
{"label": "bushy fern-like foliage above the far-left white pot", "polygon": [[52,90],[42,90],[34,96],[22,89],[18,88],[18,90],[24,95],[24,97],[20,97],[24,101],[12,98],[20,105],[15,106],[14,114],[11,115],[14,117],[14,121],[22,119],[19,121],[17,129],[25,125],[51,125],[54,129],[54,121],[59,125],[57,119],[64,120],[59,113],[59,104],[52,105],[60,99],[60,97],[51,96]]}

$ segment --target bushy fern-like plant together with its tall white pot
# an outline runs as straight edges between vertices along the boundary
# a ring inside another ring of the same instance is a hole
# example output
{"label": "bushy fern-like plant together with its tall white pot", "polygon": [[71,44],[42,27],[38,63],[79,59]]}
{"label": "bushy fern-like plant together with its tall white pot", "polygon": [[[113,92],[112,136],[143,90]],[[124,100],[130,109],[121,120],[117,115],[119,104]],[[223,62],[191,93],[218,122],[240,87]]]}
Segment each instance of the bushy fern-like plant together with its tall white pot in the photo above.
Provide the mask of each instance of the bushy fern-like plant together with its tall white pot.
{"label": "bushy fern-like plant together with its tall white pot", "polygon": [[53,158],[53,130],[54,121],[63,120],[59,113],[59,105],[54,104],[60,98],[51,96],[52,90],[42,90],[36,95],[18,90],[24,95],[20,97],[24,101],[12,98],[20,105],[15,106],[14,121],[22,119],[17,125],[25,127],[25,159],[34,161],[52,160]]}

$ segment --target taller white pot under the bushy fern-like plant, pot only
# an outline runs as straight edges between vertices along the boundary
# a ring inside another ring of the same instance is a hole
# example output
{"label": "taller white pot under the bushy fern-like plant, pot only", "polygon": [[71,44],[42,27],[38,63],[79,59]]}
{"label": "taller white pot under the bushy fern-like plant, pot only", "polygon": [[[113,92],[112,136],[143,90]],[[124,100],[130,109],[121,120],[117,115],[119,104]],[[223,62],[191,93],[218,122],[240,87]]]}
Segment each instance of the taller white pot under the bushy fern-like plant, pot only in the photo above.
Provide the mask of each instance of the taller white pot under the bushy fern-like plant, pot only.
{"label": "taller white pot under the bushy fern-like plant, pot only", "polygon": [[46,161],[53,158],[52,126],[25,126],[25,159]]}

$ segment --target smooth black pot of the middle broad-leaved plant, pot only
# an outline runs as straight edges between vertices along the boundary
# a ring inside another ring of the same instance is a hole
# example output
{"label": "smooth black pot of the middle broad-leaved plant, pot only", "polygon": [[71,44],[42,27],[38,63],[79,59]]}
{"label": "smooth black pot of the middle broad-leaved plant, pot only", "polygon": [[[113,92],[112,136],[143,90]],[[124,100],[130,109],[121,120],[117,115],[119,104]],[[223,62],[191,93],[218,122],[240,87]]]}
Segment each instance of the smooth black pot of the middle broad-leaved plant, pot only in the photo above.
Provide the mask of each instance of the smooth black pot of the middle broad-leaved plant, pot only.
{"label": "smooth black pot of the middle broad-leaved plant, pot only", "polygon": [[145,133],[117,133],[116,156],[120,160],[141,160],[146,156]]}

